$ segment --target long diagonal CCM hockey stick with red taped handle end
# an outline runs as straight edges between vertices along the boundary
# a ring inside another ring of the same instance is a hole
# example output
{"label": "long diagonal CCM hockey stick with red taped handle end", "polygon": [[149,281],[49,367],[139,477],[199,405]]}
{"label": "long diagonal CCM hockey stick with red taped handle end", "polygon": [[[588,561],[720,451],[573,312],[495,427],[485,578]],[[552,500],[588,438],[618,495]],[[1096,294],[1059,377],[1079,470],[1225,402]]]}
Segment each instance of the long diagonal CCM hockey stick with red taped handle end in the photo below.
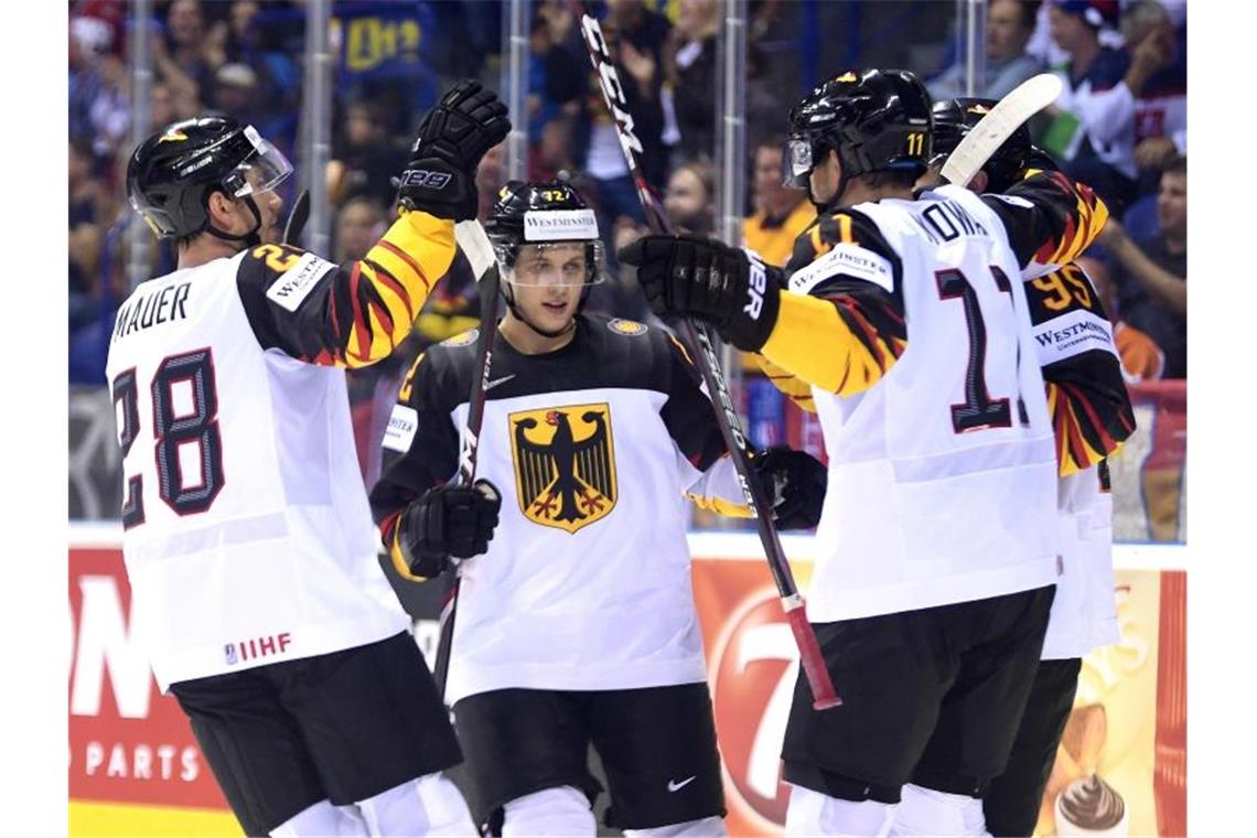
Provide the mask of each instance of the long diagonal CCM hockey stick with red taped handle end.
{"label": "long diagonal CCM hockey stick with red taped handle end", "polygon": [[[576,0],[573,0],[573,4],[576,4]],[[650,185],[646,182],[646,177],[637,163],[637,155],[642,151],[641,141],[632,133],[632,114],[628,112],[628,103],[625,99],[620,77],[611,60],[611,53],[607,50],[607,41],[602,36],[602,29],[598,26],[598,21],[586,14],[583,9],[579,11],[581,34],[590,52],[590,63],[593,64],[593,70],[598,75],[602,98],[611,112],[612,121],[616,123],[620,148],[623,151],[628,172],[637,187],[637,199],[646,212],[650,229],[654,232],[672,235],[672,225],[662,207],[660,207],[659,200],[651,193]],[[782,611],[786,612],[786,619],[794,633],[794,642],[798,645],[799,651],[799,663],[803,667],[808,686],[812,688],[812,707],[816,710],[836,707],[842,704],[842,700],[833,690],[833,681],[830,678],[830,671],[825,666],[821,647],[816,642],[816,632],[812,631],[812,624],[807,622],[807,608],[803,604],[803,597],[798,593],[798,585],[794,583],[794,574],[791,572],[786,550],[782,549],[781,539],[777,536],[777,528],[773,525],[772,506],[767,503],[759,482],[750,476],[747,437],[742,432],[742,422],[738,418],[738,411],[733,407],[729,386],[725,382],[724,373],[720,371],[720,361],[716,358],[706,324],[681,319],[678,323],[678,332],[686,344],[691,348],[698,348],[695,358],[699,372],[703,374],[708,392],[719,407],[715,412],[716,425],[720,427],[725,449],[728,449],[729,457],[733,460],[733,466],[738,472],[738,481],[742,484],[742,494],[745,504],[755,520],[759,541],[764,545],[764,555],[768,559],[768,569],[773,574],[773,582],[777,584],[777,593],[781,597]]]}

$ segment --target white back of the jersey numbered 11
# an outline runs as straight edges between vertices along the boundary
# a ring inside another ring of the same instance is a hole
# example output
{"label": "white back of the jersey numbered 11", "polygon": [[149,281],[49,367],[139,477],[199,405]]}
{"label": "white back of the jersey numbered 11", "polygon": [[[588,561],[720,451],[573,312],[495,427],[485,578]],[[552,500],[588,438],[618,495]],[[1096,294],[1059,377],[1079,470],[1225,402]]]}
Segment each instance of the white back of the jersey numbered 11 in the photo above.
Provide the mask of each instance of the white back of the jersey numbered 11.
{"label": "white back of the jersey numbered 11", "polygon": [[876,245],[837,242],[789,288],[825,295],[837,278],[901,294],[908,343],[870,389],[813,388],[830,481],[810,619],[1055,583],[1052,427],[1001,217],[950,186],[843,212],[871,222]]}

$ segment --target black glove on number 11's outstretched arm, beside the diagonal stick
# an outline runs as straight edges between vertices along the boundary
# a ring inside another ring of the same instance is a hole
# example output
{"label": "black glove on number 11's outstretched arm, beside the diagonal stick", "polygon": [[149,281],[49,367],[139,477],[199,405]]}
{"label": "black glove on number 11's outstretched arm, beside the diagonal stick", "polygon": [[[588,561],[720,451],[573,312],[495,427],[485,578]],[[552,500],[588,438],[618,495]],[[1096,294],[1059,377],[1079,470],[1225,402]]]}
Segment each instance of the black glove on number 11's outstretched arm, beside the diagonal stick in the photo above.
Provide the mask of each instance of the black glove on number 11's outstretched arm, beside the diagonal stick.
{"label": "black glove on number 11's outstretched arm, beside the diagonal stick", "polygon": [[781,269],[738,248],[698,236],[644,236],[620,251],[659,315],[694,317],[747,352],[759,352],[777,323]]}

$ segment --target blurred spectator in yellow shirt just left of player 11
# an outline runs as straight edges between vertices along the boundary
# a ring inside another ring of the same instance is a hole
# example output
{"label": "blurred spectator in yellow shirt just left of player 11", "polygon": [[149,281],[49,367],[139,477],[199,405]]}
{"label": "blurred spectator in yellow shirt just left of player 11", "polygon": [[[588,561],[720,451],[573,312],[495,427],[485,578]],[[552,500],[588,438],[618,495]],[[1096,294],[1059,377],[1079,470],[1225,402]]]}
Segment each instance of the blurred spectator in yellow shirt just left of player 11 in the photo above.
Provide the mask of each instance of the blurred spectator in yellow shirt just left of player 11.
{"label": "blurred spectator in yellow shirt just left of player 11", "polygon": [[778,268],[786,266],[796,236],[816,219],[816,207],[806,191],[782,186],[784,142],[784,137],[771,137],[755,148],[755,212],[742,224],[742,244]]}

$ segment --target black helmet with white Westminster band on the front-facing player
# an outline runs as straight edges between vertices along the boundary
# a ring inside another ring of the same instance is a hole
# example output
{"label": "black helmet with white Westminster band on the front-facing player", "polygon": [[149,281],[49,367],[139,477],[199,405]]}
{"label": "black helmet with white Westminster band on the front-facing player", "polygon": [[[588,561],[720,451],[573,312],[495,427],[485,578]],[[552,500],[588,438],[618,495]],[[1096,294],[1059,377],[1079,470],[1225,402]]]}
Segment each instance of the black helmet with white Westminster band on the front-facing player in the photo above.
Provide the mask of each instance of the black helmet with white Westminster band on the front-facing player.
{"label": "black helmet with white Westminster band on the front-facing player", "polygon": [[602,281],[602,240],[593,210],[562,181],[509,181],[484,222],[503,278],[514,283],[515,261],[524,245],[544,248],[581,242],[586,246],[582,285]]}

